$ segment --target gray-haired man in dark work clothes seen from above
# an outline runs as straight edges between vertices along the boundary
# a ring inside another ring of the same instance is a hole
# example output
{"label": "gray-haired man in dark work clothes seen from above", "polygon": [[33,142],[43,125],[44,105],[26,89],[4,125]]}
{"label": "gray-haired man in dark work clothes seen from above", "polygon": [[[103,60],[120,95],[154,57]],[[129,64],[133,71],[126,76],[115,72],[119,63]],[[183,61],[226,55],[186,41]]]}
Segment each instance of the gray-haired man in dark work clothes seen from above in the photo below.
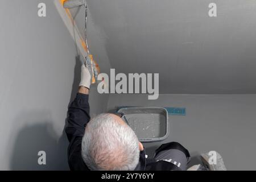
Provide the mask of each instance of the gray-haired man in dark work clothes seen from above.
{"label": "gray-haired man in dark work clothes seen from above", "polygon": [[189,152],[176,142],[160,146],[147,159],[134,131],[115,114],[90,119],[90,73],[81,68],[79,93],[68,109],[68,162],[71,170],[185,170]]}

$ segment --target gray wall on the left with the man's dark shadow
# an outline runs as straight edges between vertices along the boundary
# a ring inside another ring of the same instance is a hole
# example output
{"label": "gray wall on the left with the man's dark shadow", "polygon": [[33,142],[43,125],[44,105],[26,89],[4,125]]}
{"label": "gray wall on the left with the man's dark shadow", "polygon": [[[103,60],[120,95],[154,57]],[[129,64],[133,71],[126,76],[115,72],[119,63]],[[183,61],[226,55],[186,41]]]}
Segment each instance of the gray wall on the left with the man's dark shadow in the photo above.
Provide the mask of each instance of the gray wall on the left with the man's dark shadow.
{"label": "gray wall on the left with the man's dark shadow", "polygon": [[[47,5],[45,18],[38,17],[40,2]],[[68,169],[63,129],[80,81],[75,44],[53,1],[1,3],[0,169]],[[110,65],[92,24],[89,31],[91,51],[107,72]],[[105,110],[108,96],[92,86],[89,102],[95,115]],[[46,166],[37,163],[40,150],[46,151]]]}

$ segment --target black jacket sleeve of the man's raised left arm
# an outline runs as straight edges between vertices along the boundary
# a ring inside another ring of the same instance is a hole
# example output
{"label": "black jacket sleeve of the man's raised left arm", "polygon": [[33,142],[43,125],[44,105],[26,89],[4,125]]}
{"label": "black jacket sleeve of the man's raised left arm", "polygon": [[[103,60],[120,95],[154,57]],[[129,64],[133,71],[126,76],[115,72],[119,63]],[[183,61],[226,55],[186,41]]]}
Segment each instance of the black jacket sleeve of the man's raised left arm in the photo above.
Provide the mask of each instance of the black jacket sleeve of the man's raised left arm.
{"label": "black jacket sleeve of the man's raised left arm", "polygon": [[77,93],[68,108],[68,126],[65,129],[69,140],[68,163],[71,170],[88,170],[81,156],[81,143],[85,126],[90,121],[88,94]]}

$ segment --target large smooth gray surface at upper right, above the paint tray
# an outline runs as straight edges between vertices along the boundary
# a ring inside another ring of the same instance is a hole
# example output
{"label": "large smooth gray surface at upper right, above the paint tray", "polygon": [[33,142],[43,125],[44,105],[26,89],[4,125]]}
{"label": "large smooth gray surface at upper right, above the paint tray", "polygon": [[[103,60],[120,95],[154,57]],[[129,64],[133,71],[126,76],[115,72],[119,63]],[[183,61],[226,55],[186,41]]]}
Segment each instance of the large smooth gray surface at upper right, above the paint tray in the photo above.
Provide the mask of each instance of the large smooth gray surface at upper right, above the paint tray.
{"label": "large smooth gray surface at upper right, above the paint tray", "polygon": [[159,73],[160,93],[256,93],[256,1],[87,0],[112,68]]}

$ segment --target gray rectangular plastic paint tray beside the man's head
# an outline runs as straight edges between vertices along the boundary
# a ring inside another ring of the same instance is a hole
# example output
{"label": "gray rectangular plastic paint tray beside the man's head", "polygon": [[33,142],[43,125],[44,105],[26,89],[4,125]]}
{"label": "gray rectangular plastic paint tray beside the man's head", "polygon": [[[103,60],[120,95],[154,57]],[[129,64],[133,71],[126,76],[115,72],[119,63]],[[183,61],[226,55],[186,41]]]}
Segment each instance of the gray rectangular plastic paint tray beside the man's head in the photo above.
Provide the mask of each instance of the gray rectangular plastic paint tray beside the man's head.
{"label": "gray rectangular plastic paint tray beside the man's head", "polygon": [[163,107],[122,107],[118,113],[134,130],[139,141],[156,142],[168,137],[168,112]]}

